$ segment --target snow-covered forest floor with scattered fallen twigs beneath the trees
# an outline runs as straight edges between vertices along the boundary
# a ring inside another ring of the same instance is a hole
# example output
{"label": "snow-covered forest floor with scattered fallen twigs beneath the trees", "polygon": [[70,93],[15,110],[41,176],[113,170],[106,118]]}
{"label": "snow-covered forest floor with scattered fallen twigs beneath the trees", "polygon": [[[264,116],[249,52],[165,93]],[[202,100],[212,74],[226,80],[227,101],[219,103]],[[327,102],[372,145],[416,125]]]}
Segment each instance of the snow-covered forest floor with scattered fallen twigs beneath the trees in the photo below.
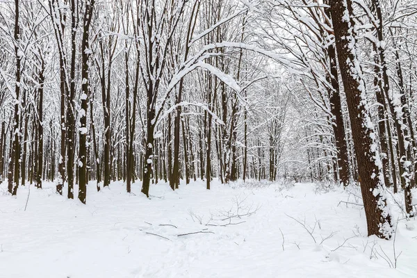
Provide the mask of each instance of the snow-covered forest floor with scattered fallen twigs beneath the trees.
{"label": "snow-covered forest floor with scattered fallen twigs beneath the trees", "polygon": [[417,277],[416,220],[400,220],[395,240],[367,237],[363,206],[341,203],[361,203],[354,188],[195,181],[152,185],[147,199],[140,183],[130,195],[90,183],[83,205],[52,183],[29,198],[6,186],[1,278]]}

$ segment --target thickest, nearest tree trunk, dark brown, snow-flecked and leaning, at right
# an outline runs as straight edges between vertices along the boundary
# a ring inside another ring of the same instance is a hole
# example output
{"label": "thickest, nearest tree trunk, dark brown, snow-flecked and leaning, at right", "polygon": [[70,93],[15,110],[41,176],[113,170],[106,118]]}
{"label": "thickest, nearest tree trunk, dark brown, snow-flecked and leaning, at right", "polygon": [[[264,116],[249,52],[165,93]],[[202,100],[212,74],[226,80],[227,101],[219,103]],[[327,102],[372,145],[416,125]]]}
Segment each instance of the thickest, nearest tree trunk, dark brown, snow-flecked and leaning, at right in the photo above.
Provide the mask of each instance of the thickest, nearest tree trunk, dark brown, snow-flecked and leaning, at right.
{"label": "thickest, nearest tree trunk, dark brown, snow-flecked and leaning, at right", "polygon": [[[339,67],[345,88],[352,126],[354,150],[359,165],[359,179],[368,224],[368,235],[391,238],[391,215],[386,208],[384,180],[379,168],[375,134],[368,114],[368,104],[361,68],[354,52],[355,38],[350,19],[350,0],[331,0],[330,10],[336,40]],[[347,17],[347,18],[346,18]]]}

